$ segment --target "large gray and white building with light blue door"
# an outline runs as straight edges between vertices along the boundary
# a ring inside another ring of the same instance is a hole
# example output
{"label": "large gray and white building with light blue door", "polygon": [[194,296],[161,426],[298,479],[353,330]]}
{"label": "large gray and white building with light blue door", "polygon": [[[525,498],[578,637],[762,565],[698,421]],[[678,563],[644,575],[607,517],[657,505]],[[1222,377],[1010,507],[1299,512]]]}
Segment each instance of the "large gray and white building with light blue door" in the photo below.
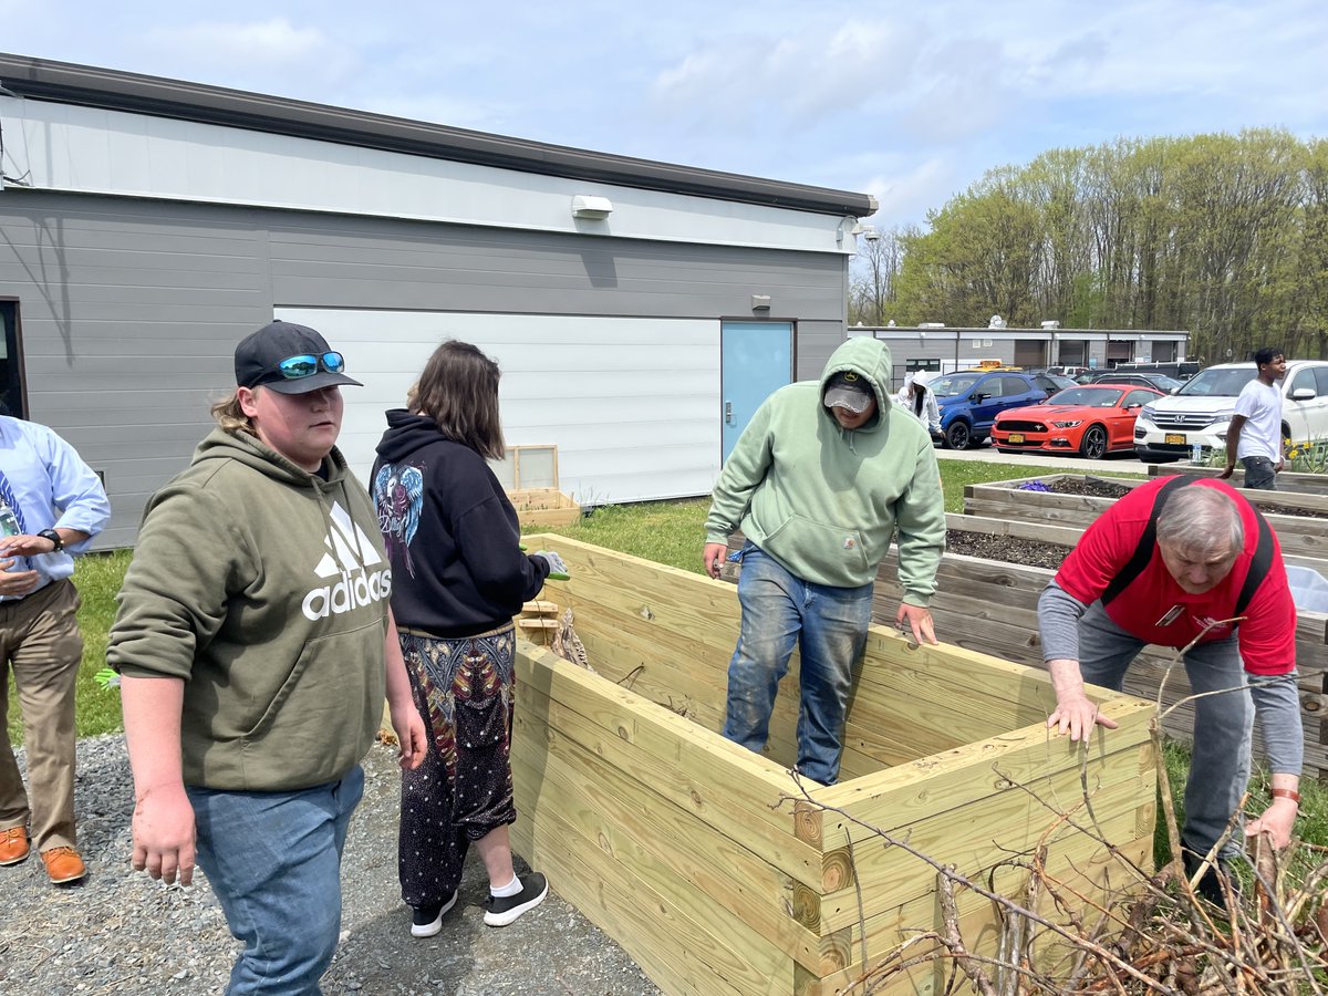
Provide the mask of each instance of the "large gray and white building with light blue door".
{"label": "large gray and white building with light blue door", "polygon": [[365,382],[341,445],[448,337],[503,368],[509,444],[584,503],[703,494],[769,390],[845,337],[865,194],[0,54],[0,388],[134,538],[274,316]]}

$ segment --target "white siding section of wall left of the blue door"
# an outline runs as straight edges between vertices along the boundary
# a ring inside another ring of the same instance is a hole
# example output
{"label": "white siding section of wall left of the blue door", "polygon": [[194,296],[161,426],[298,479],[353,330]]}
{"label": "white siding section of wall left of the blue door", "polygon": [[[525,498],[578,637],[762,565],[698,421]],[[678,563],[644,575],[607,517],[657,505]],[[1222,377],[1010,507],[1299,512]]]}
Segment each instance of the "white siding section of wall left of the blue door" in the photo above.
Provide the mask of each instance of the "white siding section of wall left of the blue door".
{"label": "white siding section of wall left of the blue door", "polygon": [[700,319],[278,308],[317,328],[364,388],[345,388],[340,446],[368,478],[382,412],[446,339],[502,368],[509,445],[558,446],[582,505],[706,494],[720,469],[720,323]]}

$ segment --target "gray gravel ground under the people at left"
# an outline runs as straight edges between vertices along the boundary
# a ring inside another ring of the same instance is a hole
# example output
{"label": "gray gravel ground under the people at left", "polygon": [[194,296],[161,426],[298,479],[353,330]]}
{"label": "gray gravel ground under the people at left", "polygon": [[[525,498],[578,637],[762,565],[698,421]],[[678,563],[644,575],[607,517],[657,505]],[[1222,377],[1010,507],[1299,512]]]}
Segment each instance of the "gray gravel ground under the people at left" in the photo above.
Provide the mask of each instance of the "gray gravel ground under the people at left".
{"label": "gray gravel ground under the people at left", "polygon": [[[19,752],[20,768],[24,764]],[[341,946],[325,993],[364,996],[659,996],[612,940],[556,895],[510,927],[483,924],[483,867],[471,854],[442,932],[410,936],[396,875],[400,780],[393,752],[364,762],[364,801],[343,861]],[[191,888],[129,867],[133,782],[121,736],[78,744],[76,807],[90,874],[50,886],[36,855],[0,869],[0,993],[222,993],[238,943],[201,874]]]}

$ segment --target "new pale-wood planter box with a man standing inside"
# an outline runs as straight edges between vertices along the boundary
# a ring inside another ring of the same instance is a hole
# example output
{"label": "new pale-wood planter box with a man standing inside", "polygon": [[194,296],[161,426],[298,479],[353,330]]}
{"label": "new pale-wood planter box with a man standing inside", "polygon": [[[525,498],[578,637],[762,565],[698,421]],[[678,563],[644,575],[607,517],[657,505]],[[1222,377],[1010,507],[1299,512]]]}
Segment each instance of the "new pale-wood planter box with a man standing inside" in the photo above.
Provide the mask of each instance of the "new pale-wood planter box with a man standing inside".
{"label": "new pale-wood planter box with a man standing inside", "polygon": [[[939,926],[935,870],[871,827],[971,876],[1045,835],[1052,875],[1116,888],[1122,867],[1058,818],[1082,802],[1086,778],[1108,839],[1150,861],[1147,703],[1102,693],[1121,726],[1084,753],[1048,734],[1054,696],[1041,672],[874,627],[842,781],[798,801],[793,676],[766,756],[718,734],[733,586],[563,538],[531,542],[571,567],[546,596],[576,614],[596,673],[518,644],[513,843],[671,996],[842,993],[911,928]],[[963,895],[960,912],[968,942],[993,954],[991,904]],[[874,992],[940,992],[944,968]]]}

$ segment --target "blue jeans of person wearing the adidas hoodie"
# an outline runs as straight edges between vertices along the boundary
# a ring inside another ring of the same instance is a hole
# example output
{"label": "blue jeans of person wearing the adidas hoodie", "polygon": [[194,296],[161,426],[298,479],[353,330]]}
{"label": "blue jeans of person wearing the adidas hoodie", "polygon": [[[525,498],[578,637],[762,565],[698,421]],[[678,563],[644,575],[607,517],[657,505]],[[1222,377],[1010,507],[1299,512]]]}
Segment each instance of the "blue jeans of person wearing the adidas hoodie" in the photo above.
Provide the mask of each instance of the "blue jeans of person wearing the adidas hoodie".
{"label": "blue jeans of person wearing the adidas hoodie", "polygon": [[320,993],[341,932],[341,850],[364,772],[300,791],[187,791],[198,865],[244,942],[227,996]]}

